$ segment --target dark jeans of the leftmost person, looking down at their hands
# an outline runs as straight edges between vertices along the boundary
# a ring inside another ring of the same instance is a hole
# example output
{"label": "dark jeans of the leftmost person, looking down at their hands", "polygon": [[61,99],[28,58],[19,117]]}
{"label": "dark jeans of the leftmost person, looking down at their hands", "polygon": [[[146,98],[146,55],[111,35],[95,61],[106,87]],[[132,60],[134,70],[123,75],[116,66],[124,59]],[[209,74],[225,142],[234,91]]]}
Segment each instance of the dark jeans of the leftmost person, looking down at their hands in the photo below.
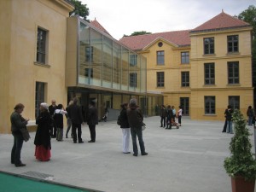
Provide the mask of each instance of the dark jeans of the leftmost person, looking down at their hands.
{"label": "dark jeans of the leftmost person, looking down at their hands", "polygon": [[15,165],[21,164],[20,160],[20,153],[21,153],[21,148],[23,145],[23,137],[21,134],[13,133],[14,136],[14,146],[12,148],[12,154],[11,154],[11,163]]}

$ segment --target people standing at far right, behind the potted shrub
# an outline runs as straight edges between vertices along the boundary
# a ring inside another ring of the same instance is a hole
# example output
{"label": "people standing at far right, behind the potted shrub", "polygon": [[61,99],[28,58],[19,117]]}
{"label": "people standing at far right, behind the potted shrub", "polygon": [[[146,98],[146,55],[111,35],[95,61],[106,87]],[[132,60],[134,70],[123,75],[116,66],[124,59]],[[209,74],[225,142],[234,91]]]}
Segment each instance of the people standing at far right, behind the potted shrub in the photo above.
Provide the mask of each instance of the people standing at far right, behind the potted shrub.
{"label": "people standing at far right, behind the potted shrub", "polygon": [[[233,124],[232,124],[232,114],[234,113],[234,110],[230,105],[225,109],[224,111],[224,117],[225,117],[225,123],[224,128],[222,132],[233,134]],[[248,125],[254,125],[255,124],[255,113],[253,111],[253,107],[249,106],[247,108],[247,123]]]}

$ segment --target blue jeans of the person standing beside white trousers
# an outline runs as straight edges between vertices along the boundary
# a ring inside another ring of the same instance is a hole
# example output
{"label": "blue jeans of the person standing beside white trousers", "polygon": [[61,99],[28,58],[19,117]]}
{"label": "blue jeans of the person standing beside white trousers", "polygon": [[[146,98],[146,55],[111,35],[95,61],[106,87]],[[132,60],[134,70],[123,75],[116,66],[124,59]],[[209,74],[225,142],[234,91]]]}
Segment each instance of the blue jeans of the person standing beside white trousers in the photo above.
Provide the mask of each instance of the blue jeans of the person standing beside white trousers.
{"label": "blue jeans of the person standing beside white trousers", "polygon": [[134,154],[138,153],[137,138],[138,138],[138,141],[139,141],[139,144],[140,144],[141,153],[144,154],[145,153],[145,147],[144,147],[144,142],[143,142],[143,130],[131,127],[131,139],[132,139],[132,146],[133,146],[133,153]]}

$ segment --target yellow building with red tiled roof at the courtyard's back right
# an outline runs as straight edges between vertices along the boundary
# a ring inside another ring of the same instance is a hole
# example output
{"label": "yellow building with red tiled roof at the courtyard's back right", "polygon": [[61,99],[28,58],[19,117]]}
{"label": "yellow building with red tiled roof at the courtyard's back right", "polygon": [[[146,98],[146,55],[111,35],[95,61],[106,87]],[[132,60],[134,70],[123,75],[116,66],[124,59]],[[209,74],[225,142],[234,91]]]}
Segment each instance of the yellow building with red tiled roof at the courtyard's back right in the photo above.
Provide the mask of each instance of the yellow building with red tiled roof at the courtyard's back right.
{"label": "yellow building with red tiled roof at the courtyard's back right", "polygon": [[228,105],[253,106],[252,26],[224,12],[193,30],[119,41],[147,58],[147,91],[191,119],[224,120]]}

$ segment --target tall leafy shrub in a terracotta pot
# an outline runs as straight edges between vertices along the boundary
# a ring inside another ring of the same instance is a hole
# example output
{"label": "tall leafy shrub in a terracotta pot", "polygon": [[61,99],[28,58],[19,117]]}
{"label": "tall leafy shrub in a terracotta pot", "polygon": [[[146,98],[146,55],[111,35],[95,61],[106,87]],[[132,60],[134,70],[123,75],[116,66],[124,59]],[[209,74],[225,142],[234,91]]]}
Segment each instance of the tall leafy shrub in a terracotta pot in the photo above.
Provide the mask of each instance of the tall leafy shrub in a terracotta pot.
{"label": "tall leafy shrub in a terracotta pot", "polygon": [[232,115],[235,134],[230,142],[230,157],[225,158],[224,168],[231,177],[233,192],[253,192],[256,178],[256,160],[253,157],[247,120],[239,110]]}

